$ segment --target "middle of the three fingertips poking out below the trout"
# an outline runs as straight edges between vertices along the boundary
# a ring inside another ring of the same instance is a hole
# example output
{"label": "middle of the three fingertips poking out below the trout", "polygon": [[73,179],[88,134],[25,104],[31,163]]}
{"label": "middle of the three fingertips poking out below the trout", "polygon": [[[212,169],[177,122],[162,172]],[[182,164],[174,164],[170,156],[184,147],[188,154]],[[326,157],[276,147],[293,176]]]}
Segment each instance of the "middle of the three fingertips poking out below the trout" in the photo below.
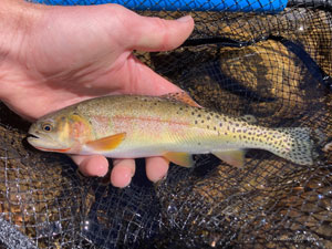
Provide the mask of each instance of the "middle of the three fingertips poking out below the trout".
{"label": "middle of the three fingertips poking out below the trout", "polygon": [[111,183],[114,187],[124,188],[129,185],[135,174],[134,159],[113,159]]}

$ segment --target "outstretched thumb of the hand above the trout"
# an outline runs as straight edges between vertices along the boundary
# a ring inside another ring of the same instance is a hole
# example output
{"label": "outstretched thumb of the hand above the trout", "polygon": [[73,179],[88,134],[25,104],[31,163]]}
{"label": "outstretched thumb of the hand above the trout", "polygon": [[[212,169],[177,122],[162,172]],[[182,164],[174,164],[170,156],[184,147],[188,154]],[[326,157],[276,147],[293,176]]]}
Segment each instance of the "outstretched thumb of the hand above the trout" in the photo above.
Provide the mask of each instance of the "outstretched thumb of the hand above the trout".
{"label": "outstretched thumb of the hand above the trout", "polygon": [[173,50],[179,46],[193,30],[194,20],[190,15],[164,20],[137,14],[128,27],[127,48],[148,52]]}

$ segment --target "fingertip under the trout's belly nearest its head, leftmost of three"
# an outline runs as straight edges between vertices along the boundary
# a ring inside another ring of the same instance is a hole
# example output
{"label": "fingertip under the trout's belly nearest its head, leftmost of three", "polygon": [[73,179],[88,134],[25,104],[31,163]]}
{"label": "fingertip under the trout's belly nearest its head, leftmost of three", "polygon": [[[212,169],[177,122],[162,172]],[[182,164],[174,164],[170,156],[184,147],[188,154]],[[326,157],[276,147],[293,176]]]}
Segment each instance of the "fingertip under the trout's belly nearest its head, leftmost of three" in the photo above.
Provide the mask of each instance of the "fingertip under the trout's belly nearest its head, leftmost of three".
{"label": "fingertip under the trout's belly nearest its head, leftmost of three", "polygon": [[71,158],[79,165],[80,172],[85,176],[104,176],[107,174],[108,162],[102,155],[73,155]]}

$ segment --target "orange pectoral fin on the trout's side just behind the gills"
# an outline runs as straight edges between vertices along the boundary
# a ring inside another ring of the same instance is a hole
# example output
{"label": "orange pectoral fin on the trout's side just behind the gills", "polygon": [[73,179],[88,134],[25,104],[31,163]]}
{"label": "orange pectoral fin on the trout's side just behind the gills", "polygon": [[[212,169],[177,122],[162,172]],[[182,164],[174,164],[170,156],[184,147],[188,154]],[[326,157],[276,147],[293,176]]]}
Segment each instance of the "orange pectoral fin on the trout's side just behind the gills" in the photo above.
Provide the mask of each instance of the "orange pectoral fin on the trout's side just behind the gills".
{"label": "orange pectoral fin on the trout's side just behind the gills", "polygon": [[125,138],[126,133],[118,133],[112,136],[103,137],[97,141],[91,141],[86,143],[86,146],[95,151],[111,151],[116,148],[121,142]]}

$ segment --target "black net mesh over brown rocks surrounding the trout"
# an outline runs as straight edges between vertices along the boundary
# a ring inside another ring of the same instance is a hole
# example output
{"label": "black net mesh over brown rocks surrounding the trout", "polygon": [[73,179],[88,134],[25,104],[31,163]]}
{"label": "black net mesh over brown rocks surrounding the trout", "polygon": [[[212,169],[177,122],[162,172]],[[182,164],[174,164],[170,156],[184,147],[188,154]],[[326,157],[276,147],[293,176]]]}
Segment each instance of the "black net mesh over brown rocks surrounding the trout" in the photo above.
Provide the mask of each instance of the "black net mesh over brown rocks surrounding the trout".
{"label": "black net mesh over brown rocks surrounding the trout", "polygon": [[[203,106],[271,127],[332,137],[332,15],[328,2],[277,14],[190,12],[172,52],[137,56]],[[298,6],[297,6],[298,4]],[[143,11],[178,18],[180,11]],[[144,162],[117,189],[63,155],[24,142],[29,124],[0,105],[0,240],[10,248],[332,248],[332,153],[299,166],[250,151],[238,169],[212,155],[172,166],[153,185]]]}

